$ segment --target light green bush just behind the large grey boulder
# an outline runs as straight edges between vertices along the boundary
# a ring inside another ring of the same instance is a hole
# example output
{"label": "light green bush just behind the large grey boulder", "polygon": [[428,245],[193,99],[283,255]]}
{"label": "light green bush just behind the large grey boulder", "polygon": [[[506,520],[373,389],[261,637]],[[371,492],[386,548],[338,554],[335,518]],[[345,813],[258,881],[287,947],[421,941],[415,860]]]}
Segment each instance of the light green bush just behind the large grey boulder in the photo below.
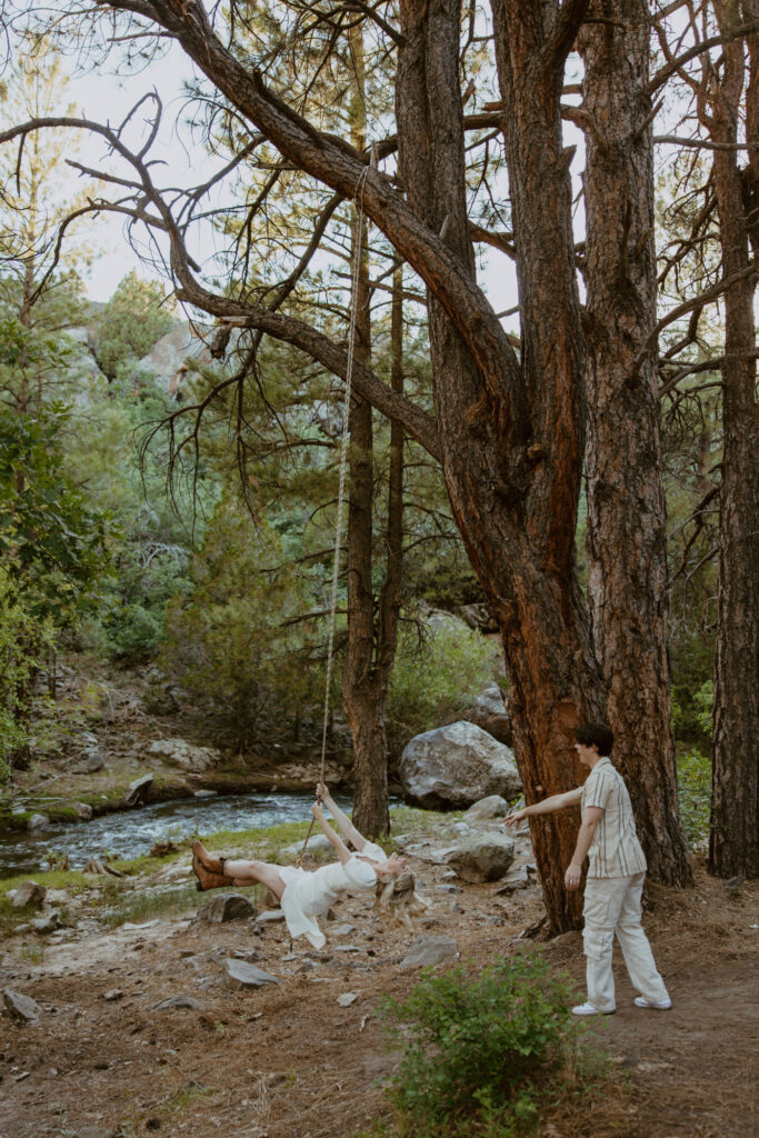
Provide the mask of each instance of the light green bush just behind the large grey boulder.
{"label": "light green bush just behind the large grey boulder", "polygon": [[451,621],[426,632],[404,626],[387,700],[388,743],[397,754],[414,735],[471,707],[493,678],[493,646]]}

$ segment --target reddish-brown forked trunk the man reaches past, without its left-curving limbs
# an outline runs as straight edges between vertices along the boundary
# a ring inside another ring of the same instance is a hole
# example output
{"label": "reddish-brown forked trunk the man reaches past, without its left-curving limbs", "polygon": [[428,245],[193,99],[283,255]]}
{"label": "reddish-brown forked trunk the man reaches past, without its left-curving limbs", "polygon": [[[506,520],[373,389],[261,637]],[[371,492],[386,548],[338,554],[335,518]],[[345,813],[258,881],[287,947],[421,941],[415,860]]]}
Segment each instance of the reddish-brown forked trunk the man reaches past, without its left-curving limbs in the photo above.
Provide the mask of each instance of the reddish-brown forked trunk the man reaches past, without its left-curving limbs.
{"label": "reddish-brown forked trunk the man reaches past, without its left-curving limbs", "polygon": [[[494,7],[522,305],[522,368],[510,399],[505,390],[498,398],[492,386],[486,389],[432,292],[429,311],[446,486],[503,635],[517,760],[529,803],[580,781],[575,728],[601,715],[603,692],[575,563],[583,339],[561,145],[562,64],[542,55],[546,35],[539,22],[526,38],[517,34],[525,7],[511,0]],[[414,212],[442,232],[473,279],[459,19],[455,0],[424,7],[402,0],[396,116],[402,176]],[[566,814],[533,823],[555,932],[580,918],[577,894],[563,887],[576,831],[576,818]]]}

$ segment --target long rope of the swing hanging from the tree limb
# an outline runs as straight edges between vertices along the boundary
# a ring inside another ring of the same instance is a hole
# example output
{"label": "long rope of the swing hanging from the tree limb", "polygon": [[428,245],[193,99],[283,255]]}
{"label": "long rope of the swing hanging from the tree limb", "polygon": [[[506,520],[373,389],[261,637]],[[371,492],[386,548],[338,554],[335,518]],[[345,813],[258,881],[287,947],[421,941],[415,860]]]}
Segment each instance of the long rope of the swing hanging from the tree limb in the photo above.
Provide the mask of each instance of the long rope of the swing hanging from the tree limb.
{"label": "long rope of the swing hanging from the tree limb", "polygon": [[[356,348],[356,324],[358,320],[358,273],[361,271],[361,221],[363,217],[363,195],[364,184],[369,174],[369,166],[362,171],[358,184],[356,185],[356,197],[354,205],[356,209],[356,240],[353,248],[353,267],[350,273],[350,319],[348,322],[348,358],[345,374],[345,397],[343,399],[343,438],[340,443],[340,480],[337,492],[337,526],[335,530],[335,560],[332,564],[332,599],[330,602],[329,636],[327,640],[327,682],[324,684],[324,718],[322,723],[322,756],[320,765],[319,781],[324,785],[324,769],[327,766],[327,731],[329,727],[330,712],[330,686],[332,683],[332,657],[335,651],[335,622],[337,615],[337,584],[340,572],[340,546],[343,544],[343,506],[345,503],[345,475],[348,465],[348,440],[350,436],[350,393],[353,389],[353,361]],[[296,865],[300,865],[308,846],[308,840],[314,828],[316,819],[311,819],[306,840],[298,855]]]}

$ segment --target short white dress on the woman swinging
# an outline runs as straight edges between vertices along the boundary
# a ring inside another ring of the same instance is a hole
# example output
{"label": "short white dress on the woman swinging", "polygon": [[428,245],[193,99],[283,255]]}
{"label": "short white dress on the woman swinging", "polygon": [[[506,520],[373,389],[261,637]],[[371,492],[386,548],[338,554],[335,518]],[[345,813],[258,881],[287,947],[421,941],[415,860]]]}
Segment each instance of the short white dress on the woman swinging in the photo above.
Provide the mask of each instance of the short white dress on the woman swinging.
{"label": "short white dress on the woman swinging", "polygon": [[377,884],[373,866],[362,861],[362,857],[387,861],[385,850],[366,842],[361,857],[353,853],[345,865],[333,861],[319,869],[300,869],[290,865],[279,867],[279,875],[284,882],[280,905],[290,937],[305,937],[314,948],[324,947],[327,938],[315,918],[327,913],[345,893],[362,892]]}

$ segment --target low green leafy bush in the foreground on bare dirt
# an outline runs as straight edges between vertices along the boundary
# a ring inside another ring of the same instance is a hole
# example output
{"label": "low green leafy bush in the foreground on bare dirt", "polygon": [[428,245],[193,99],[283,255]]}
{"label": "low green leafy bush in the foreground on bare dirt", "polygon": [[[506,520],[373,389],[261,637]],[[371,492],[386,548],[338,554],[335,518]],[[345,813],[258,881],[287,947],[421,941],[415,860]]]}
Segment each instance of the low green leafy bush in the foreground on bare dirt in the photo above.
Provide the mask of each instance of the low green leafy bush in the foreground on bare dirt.
{"label": "low green leafy bush in the foreground on bare dirt", "polygon": [[423,975],[385,1014],[403,1045],[390,1091],[409,1135],[493,1135],[529,1129],[542,1089],[576,1038],[574,991],[539,956],[496,960],[480,975],[463,965]]}

